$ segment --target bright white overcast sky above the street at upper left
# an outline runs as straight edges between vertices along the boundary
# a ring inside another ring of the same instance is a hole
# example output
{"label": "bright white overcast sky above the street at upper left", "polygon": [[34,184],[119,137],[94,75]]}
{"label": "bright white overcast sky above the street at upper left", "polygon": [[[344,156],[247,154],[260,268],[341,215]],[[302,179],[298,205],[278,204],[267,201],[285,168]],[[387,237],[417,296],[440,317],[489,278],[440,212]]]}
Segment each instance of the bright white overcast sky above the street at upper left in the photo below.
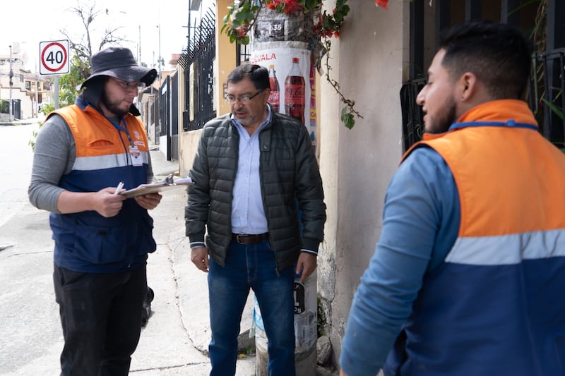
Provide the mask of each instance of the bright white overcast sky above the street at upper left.
{"label": "bright white overcast sky above the street at upper left", "polygon": [[[84,34],[80,18],[69,11],[78,4],[95,4],[95,9],[102,11],[95,19],[95,29],[104,30],[108,25],[121,27],[118,34],[131,40],[129,44],[124,43],[124,47],[129,47],[137,58],[138,46],[141,46],[141,62],[148,66],[157,63],[160,50],[166,70],[171,55],[180,54],[186,48],[189,0],[95,0],[86,3],[84,0],[23,0],[2,3],[0,54],[8,55],[8,46],[19,43],[21,53],[28,56],[26,67],[38,72],[40,42],[64,40],[61,29],[75,35],[71,37],[73,41]],[[166,8],[165,4],[168,4]],[[206,10],[206,1],[204,6]],[[194,20],[194,16],[192,18]],[[97,49],[101,37],[93,39],[93,48]]]}

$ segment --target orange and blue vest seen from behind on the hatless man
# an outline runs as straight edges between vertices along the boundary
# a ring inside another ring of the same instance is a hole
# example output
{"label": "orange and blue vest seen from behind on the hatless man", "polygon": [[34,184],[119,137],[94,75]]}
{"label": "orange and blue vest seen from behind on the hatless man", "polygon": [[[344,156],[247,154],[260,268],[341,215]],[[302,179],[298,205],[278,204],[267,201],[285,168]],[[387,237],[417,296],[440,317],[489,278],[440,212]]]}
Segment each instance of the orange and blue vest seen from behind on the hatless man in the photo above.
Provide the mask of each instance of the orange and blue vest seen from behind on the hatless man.
{"label": "orange and blue vest seen from behind on the hatless man", "polygon": [[494,101],[415,145],[448,164],[461,217],[398,375],[565,375],[565,156],[536,124],[525,102]]}

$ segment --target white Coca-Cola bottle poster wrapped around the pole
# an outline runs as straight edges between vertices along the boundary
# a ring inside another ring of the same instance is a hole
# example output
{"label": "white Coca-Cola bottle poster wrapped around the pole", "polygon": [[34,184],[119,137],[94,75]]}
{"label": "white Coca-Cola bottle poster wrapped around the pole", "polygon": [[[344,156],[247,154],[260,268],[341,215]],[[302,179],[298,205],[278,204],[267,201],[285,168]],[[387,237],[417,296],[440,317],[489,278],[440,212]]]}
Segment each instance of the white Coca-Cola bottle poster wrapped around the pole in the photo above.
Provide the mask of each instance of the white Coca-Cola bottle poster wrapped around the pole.
{"label": "white Coca-Cola bottle poster wrapped around the pole", "polygon": [[251,52],[250,63],[268,69],[271,106],[303,123],[316,150],[316,76],[310,54],[309,49],[285,42],[262,43],[261,49]]}

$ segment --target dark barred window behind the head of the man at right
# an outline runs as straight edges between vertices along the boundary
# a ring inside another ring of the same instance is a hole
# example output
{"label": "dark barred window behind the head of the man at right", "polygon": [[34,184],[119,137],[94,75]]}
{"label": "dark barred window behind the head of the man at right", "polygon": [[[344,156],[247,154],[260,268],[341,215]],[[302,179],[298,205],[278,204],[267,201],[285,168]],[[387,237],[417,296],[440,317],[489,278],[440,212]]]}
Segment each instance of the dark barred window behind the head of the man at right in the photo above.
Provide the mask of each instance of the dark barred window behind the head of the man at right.
{"label": "dark barred window behind the head of the man at right", "polygon": [[565,151],[565,1],[434,0],[410,1],[410,80],[400,90],[403,147],[422,138],[423,114],[416,104],[426,83],[425,72],[436,52],[439,32],[456,23],[488,19],[516,25],[534,45],[528,103],[540,132]]}

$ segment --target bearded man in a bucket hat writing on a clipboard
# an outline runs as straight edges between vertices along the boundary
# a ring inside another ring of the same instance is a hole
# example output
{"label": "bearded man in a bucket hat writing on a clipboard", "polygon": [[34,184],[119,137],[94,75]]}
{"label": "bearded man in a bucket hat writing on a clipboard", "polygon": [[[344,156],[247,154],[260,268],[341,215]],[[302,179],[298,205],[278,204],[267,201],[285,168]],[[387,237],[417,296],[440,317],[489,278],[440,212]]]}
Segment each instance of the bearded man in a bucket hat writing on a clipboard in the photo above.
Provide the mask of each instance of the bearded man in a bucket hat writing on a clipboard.
{"label": "bearded man in a bucket hat writing on a clipboard", "polygon": [[155,69],[129,49],[91,59],[76,102],[47,116],[35,143],[30,202],[51,212],[54,286],[65,345],[61,375],[127,375],[141,332],[158,193],[125,199],[153,180],[148,139],[133,106]]}

